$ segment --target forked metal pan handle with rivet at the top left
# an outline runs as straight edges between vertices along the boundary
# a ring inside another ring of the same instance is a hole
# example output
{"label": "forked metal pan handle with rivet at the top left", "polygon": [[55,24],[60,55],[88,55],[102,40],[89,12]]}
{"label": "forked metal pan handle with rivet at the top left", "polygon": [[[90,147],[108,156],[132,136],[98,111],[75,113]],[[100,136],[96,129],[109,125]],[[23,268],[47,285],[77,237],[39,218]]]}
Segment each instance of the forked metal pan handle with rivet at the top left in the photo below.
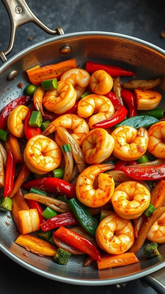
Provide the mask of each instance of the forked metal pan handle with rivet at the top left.
{"label": "forked metal pan handle with rivet at the top left", "polygon": [[[10,42],[8,49],[3,52],[4,53],[4,59],[5,56],[7,56],[14,46],[14,40],[16,35],[16,29],[19,26],[22,26],[23,24],[27,24],[29,22],[32,22],[39,26],[43,31],[50,35],[63,35],[63,29],[57,28],[55,30],[49,29],[47,26],[45,26],[31,11],[29,6],[27,5],[25,0],[1,0],[4,4],[7,13],[9,15],[10,24],[11,24],[11,33],[10,33]],[[7,60],[7,59],[6,59]],[[4,60],[4,61],[6,61]],[[2,62],[4,62],[2,60]]]}

